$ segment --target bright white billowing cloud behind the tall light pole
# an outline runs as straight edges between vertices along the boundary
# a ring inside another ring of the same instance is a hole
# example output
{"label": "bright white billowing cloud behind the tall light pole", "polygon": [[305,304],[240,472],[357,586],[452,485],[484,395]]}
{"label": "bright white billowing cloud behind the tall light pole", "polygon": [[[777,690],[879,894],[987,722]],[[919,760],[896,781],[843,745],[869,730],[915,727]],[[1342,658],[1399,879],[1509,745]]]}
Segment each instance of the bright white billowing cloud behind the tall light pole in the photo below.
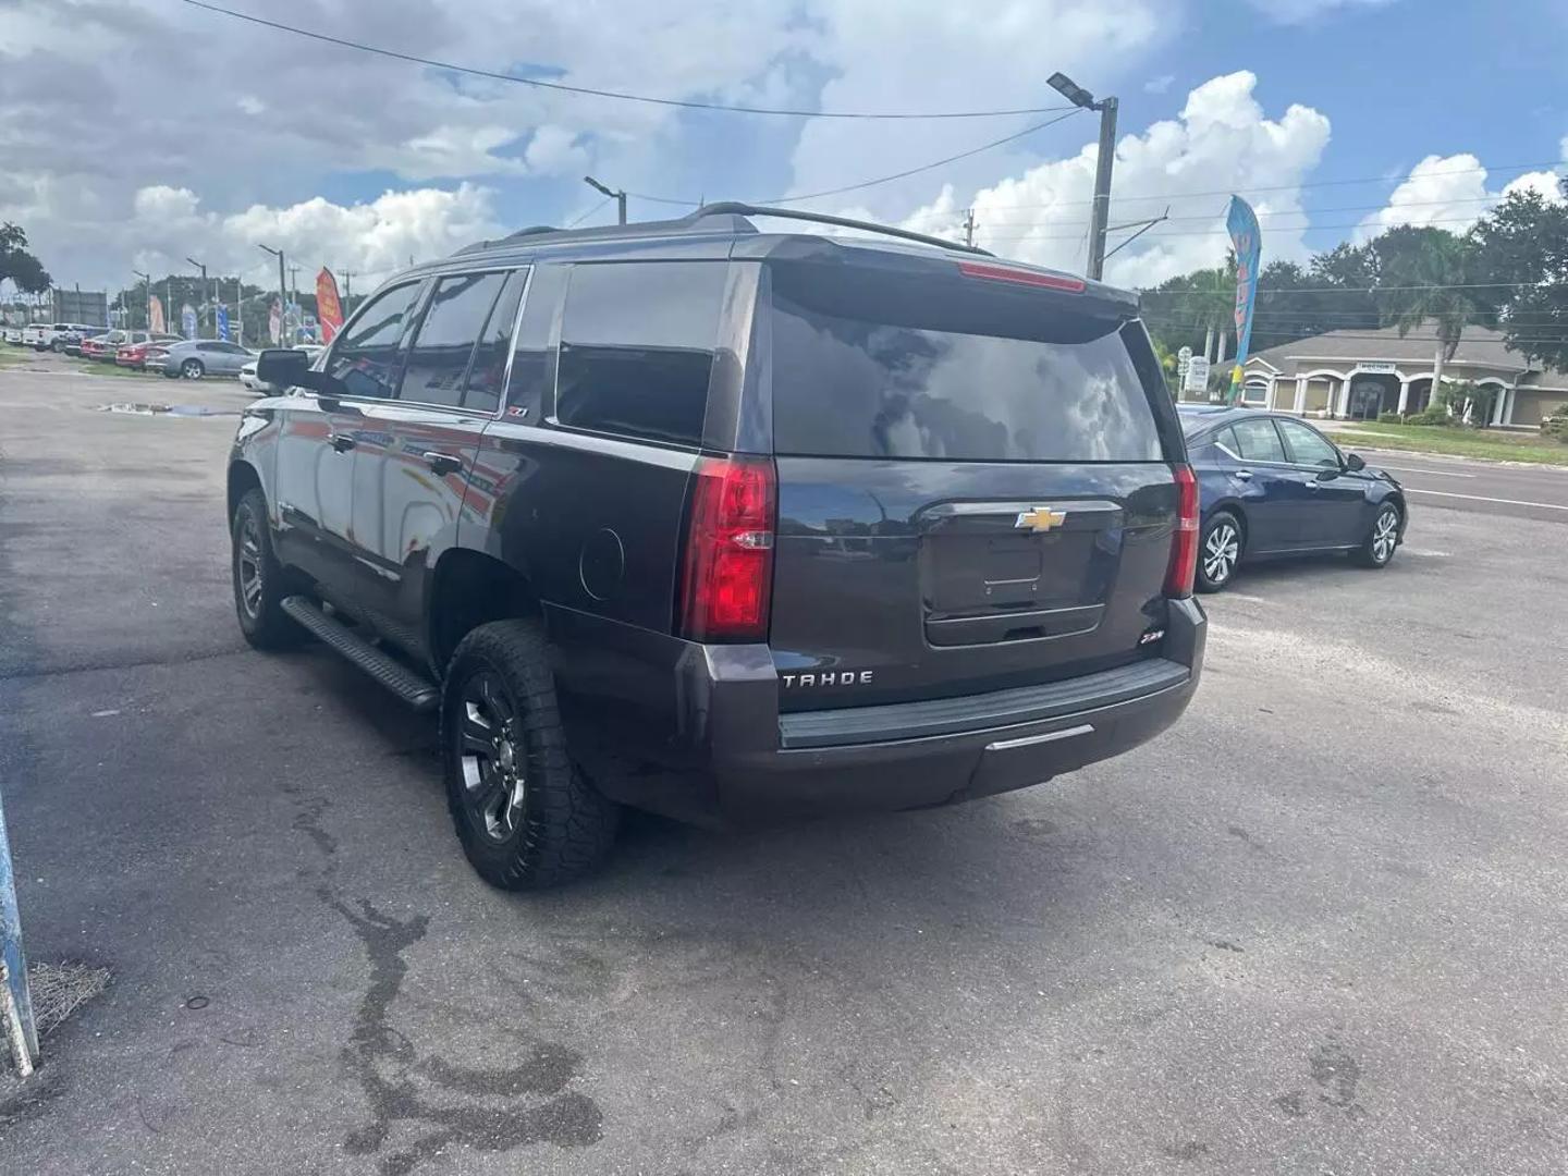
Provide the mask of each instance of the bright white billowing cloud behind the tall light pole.
{"label": "bright white billowing cloud behind the tall light pole", "polygon": [[[1218,265],[1229,240],[1223,232],[1228,191],[1269,190],[1251,198],[1264,224],[1265,262],[1305,256],[1301,218],[1279,221],[1295,227],[1273,227],[1272,216],[1300,213],[1297,185],[1328,144],[1328,119],[1308,107],[1270,119],[1253,97],[1256,85],[1250,72],[1212,78],[1189,94],[1179,119],[1156,122],[1116,144],[1110,223],[1159,216],[1167,204],[1171,220],[1112,257],[1109,281],[1142,287]],[[1076,155],[983,187],[967,201],[947,185],[905,224],[958,240],[963,209],[972,207],[978,245],[1082,273],[1094,158],[1094,144],[1085,144]],[[1112,243],[1126,235],[1113,235]]]}

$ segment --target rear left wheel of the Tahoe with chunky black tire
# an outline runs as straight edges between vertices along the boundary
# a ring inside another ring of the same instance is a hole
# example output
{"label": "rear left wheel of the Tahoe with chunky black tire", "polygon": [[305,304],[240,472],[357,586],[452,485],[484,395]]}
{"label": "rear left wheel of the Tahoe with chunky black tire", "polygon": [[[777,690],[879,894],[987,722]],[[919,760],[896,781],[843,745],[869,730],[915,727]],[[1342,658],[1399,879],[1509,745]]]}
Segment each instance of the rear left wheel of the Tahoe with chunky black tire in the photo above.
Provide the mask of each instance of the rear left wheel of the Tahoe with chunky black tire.
{"label": "rear left wheel of the Tahoe with chunky black tire", "polygon": [[619,806],[572,765],[535,621],[481,624],[458,644],[442,687],[441,759],[463,853],[491,886],[558,886],[615,844]]}

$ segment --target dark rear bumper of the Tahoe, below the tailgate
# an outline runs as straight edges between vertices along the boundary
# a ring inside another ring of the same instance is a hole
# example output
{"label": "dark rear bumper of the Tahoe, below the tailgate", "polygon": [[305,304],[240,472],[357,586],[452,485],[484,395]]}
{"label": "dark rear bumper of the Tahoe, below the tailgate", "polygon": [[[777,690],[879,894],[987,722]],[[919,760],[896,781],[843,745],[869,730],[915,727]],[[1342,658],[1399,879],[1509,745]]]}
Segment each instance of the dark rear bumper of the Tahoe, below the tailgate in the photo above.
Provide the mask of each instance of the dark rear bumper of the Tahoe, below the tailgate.
{"label": "dark rear bumper of the Tahoe, below the tailgate", "polygon": [[[621,626],[613,635],[607,624],[550,610],[572,754],[615,800],[704,825],[947,804],[1118,756],[1187,709],[1207,629],[1196,601],[1173,601],[1162,657],[1121,670],[779,715],[767,646],[696,646]],[[619,648],[604,644],[612,637]]]}

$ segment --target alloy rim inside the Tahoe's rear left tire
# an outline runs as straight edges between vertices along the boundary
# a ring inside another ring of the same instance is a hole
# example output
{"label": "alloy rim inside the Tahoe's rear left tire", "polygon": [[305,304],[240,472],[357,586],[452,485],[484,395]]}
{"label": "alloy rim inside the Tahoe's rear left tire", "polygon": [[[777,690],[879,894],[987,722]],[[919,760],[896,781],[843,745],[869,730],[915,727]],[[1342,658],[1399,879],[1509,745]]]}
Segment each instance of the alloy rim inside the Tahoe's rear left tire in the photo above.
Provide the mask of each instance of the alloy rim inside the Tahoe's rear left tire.
{"label": "alloy rim inside the Tahoe's rear left tire", "polygon": [[463,687],[458,757],[469,820],[491,840],[506,840],[522,822],[528,792],[527,753],[517,707],[497,674],[480,671]]}

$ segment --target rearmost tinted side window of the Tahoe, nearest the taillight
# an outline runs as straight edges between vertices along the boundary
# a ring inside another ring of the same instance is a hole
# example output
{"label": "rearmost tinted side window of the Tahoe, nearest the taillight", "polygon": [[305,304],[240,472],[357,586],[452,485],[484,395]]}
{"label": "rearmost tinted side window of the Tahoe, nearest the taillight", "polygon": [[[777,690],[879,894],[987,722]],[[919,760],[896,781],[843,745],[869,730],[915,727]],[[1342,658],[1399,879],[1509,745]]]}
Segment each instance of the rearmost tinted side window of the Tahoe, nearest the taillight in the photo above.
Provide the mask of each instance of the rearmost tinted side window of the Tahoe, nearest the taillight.
{"label": "rearmost tinted side window of the Tahoe, nearest the taillight", "polygon": [[555,419],[696,445],[726,270],[717,262],[577,265],[561,325]]}

